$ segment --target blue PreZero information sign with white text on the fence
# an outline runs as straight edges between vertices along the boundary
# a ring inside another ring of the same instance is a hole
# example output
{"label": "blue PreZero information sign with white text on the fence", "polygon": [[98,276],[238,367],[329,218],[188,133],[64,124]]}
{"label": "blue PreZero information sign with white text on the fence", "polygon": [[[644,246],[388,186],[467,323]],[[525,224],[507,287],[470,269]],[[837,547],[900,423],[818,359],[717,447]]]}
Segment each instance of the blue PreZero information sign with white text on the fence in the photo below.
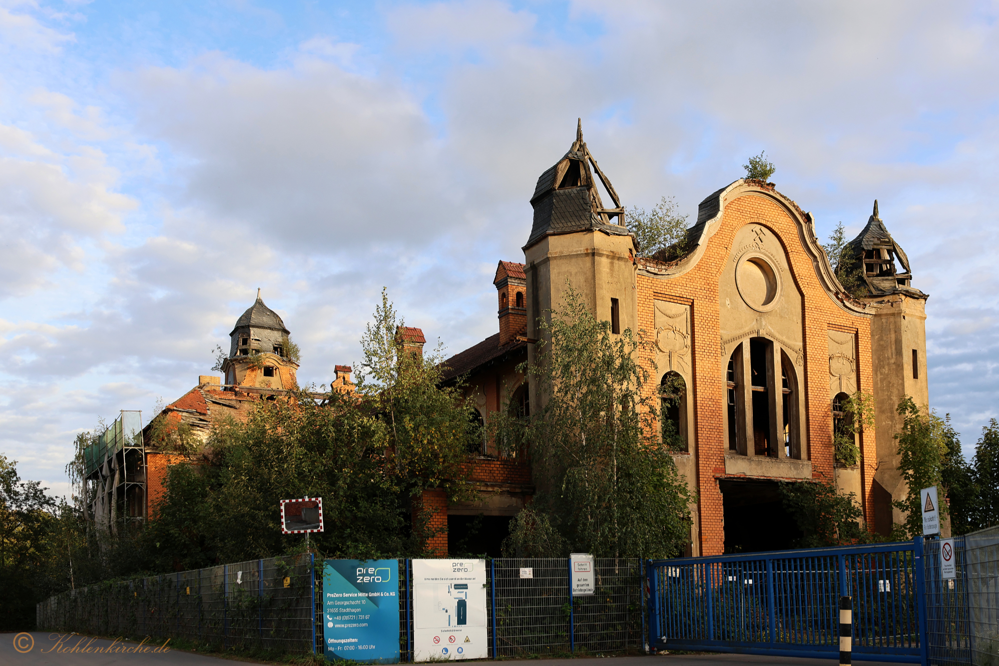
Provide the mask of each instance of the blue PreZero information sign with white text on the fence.
{"label": "blue PreZero information sign with white text on the fence", "polygon": [[327,658],[399,661],[399,561],[328,559],[323,567]]}

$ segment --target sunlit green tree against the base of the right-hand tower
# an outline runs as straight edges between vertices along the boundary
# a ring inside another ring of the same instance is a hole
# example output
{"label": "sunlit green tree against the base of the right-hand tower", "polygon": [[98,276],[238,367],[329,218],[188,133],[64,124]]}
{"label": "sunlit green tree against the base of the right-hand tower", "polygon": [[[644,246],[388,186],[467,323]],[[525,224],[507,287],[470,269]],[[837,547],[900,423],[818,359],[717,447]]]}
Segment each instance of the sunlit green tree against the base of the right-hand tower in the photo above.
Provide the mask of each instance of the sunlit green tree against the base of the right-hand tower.
{"label": "sunlit green tree against the base of the right-hand tower", "polygon": [[[943,486],[943,464],[947,455],[948,424],[935,412],[921,410],[908,395],[898,403],[902,416],[902,431],[895,434],[898,442],[898,471],[908,487],[904,499],[892,504],[905,513],[905,522],[896,523],[892,537],[911,539],[923,533],[922,506],[919,490],[935,485]],[[947,515],[947,503],[940,502],[941,521]]]}

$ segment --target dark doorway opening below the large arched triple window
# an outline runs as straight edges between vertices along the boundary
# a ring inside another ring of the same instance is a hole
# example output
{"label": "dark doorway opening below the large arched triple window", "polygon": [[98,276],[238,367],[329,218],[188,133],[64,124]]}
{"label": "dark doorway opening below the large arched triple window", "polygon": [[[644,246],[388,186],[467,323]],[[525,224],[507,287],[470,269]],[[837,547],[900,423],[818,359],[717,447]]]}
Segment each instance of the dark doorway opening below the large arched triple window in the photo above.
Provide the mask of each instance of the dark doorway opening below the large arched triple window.
{"label": "dark doorway opening below the large arched triple window", "polygon": [[784,509],[776,481],[718,481],[725,516],[725,552],[787,550],[803,534]]}

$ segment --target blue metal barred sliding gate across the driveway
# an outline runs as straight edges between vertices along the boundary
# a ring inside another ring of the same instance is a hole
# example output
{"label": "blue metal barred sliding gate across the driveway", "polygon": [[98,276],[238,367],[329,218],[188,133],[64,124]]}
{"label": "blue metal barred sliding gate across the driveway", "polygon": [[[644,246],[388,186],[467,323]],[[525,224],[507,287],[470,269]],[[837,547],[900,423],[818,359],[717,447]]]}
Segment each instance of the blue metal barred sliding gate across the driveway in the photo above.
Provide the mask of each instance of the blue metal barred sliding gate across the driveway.
{"label": "blue metal barred sliding gate across the driveway", "polygon": [[856,659],[926,662],[923,539],[647,563],[651,645],[839,657],[853,597]]}

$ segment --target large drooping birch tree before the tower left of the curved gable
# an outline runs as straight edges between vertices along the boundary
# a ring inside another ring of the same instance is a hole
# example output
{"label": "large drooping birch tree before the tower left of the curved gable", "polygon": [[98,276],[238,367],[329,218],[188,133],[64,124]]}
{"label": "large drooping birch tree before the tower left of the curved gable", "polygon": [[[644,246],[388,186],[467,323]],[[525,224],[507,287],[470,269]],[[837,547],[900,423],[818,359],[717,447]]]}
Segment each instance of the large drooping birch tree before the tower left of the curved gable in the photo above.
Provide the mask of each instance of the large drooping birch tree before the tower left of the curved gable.
{"label": "large drooping birch tree before the tower left of the curved gable", "polygon": [[[644,342],[629,330],[612,336],[571,287],[563,310],[538,325],[547,341],[523,369],[544,406],[528,419],[493,419],[501,442],[526,444],[538,486],[507,551],[539,554],[529,546],[542,542],[562,556],[675,554],[689,541],[690,495],[659,437],[658,391],[647,390],[637,362]],[[540,538],[523,536],[529,530]]]}

